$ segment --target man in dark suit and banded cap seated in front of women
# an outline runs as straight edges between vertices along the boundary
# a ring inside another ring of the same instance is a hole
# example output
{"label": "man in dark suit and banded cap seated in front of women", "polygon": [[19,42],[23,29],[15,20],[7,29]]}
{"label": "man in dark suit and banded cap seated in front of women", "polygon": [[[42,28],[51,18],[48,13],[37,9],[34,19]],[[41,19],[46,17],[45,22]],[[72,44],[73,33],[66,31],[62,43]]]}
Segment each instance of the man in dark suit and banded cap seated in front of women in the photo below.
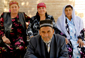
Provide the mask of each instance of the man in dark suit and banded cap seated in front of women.
{"label": "man in dark suit and banded cap seated in front of women", "polygon": [[51,20],[40,21],[39,34],[31,38],[24,58],[68,58],[65,38],[54,34]]}

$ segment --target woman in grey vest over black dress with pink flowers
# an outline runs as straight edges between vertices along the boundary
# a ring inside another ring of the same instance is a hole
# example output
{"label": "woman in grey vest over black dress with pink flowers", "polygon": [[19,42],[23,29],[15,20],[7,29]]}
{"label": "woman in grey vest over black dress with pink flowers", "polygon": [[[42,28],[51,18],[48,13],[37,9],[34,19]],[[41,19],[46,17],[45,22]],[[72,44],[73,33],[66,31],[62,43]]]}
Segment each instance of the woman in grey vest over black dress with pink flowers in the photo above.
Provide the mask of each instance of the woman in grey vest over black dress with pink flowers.
{"label": "woman in grey vest over black dress with pink flowers", "polygon": [[4,12],[0,19],[0,58],[23,58],[27,45],[25,21],[30,18],[19,12],[16,1],[9,3],[9,9],[10,12]]}

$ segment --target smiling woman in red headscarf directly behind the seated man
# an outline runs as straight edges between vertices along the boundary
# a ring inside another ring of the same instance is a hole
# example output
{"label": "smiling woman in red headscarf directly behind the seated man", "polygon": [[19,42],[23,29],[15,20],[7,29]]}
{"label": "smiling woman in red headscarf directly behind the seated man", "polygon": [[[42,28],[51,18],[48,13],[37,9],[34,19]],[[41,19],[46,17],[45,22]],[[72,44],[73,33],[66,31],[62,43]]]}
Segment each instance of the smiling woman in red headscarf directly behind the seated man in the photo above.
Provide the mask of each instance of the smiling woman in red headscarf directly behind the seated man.
{"label": "smiling woman in red headscarf directly behind the seated man", "polygon": [[29,24],[29,27],[28,27],[28,35],[30,37],[39,34],[39,23],[41,20],[51,19],[53,24],[55,24],[53,16],[47,14],[45,3],[37,4],[37,13],[31,19],[32,19],[32,22]]}

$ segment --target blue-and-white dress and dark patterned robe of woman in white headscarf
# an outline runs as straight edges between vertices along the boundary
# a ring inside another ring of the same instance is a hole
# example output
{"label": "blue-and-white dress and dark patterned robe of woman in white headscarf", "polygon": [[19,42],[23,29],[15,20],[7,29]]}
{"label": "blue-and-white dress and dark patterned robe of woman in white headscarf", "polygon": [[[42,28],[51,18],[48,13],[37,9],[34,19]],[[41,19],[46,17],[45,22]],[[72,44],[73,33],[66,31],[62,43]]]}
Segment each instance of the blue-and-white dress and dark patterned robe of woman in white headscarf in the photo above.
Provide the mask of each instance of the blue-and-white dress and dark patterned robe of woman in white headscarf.
{"label": "blue-and-white dress and dark patterned robe of woman in white headscarf", "polygon": [[[75,55],[74,58],[80,58],[80,56],[78,56],[78,55],[80,55],[80,52],[77,49],[77,46],[78,46],[77,40],[78,40],[78,38],[81,38],[83,40],[84,30],[81,30],[80,35],[78,37],[76,37],[76,34],[75,34],[76,30],[75,30],[75,25],[73,23],[73,20],[69,21],[68,18],[66,18],[66,20],[65,20],[65,27],[66,27],[68,34],[70,35],[70,40],[69,40],[69,43],[67,44],[69,58],[74,57],[74,55],[76,53],[77,53],[77,55]],[[57,33],[64,36],[64,37],[67,37],[61,31],[57,31]]]}

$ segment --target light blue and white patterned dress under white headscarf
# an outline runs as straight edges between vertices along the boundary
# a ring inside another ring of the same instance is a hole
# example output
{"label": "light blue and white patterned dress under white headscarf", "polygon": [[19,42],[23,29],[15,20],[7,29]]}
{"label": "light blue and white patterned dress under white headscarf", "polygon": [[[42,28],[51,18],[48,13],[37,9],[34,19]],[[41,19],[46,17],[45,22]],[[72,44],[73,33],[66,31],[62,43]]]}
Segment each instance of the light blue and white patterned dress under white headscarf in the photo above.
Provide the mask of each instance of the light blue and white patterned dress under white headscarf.
{"label": "light blue and white patterned dress under white headscarf", "polygon": [[70,41],[73,45],[73,58],[80,58],[80,53],[77,49],[78,43],[77,43],[77,36],[76,36],[76,29],[73,22],[73,19],[71,21],[67,18],[68,26],[69,26],[69,32],[70,32]]}

